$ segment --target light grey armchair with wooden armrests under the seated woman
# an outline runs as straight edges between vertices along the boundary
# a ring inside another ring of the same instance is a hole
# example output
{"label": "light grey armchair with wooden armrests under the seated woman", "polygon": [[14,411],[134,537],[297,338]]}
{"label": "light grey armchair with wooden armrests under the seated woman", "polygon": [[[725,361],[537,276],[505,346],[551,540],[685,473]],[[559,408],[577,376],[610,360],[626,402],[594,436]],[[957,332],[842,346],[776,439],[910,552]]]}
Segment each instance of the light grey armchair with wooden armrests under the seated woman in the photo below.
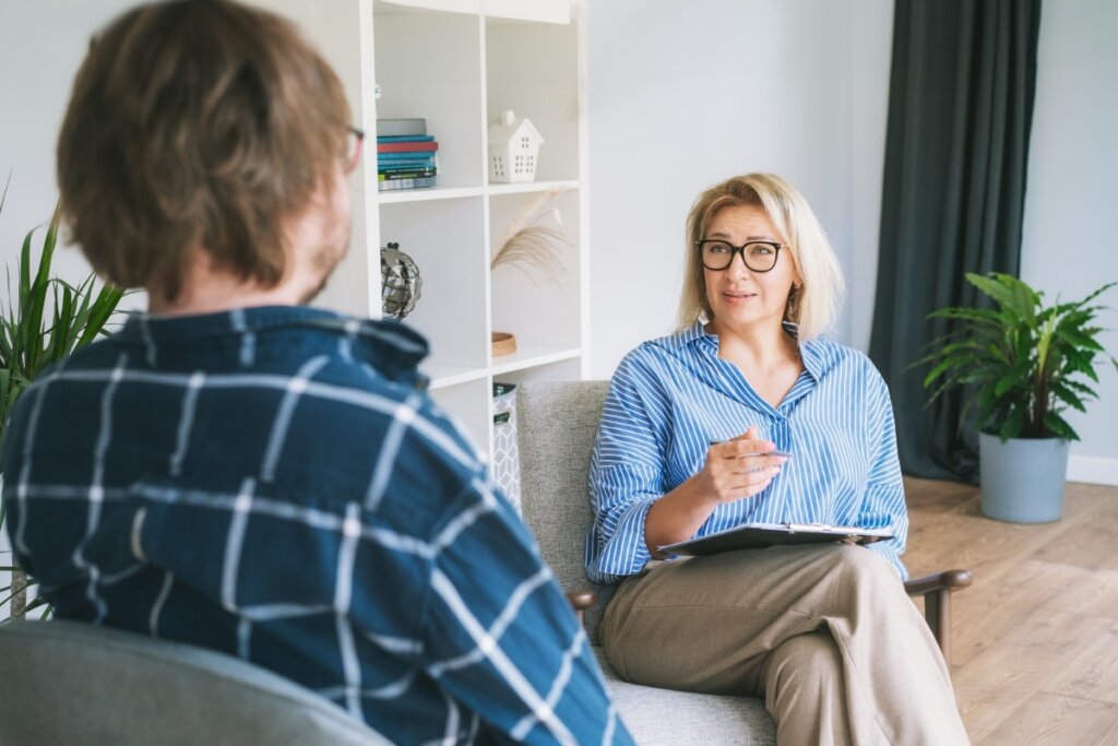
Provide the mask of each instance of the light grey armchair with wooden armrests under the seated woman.
{"label": "light grey armchair with wooden armrests under the seated woman", "polygon": [[[614,589],[587,579],[582,547],[593,519],[587,494],[590,452],[607,390],[606,381],[520,385],[517,421],[524,520],[559,585],[584,615],[609,692],[637,743],[775,744],[776,727],[760,699],[627,683],[601,653],[598,623]],[[910,595],[925,596],[926,616],[948,660],[950,592],[969,584],[970,574],[963,570],[906,584]]]}

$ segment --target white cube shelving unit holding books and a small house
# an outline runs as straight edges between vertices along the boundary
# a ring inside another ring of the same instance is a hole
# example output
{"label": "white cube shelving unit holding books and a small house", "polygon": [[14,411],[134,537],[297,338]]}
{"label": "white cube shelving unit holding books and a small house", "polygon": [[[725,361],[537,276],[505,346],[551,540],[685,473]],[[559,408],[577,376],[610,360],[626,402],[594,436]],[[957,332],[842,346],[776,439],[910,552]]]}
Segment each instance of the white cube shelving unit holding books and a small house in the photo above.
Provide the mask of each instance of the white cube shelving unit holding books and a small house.
{"label": "white cube shelving unit holding books and a small house", "polygon": [[[423,295],[406,323],[432,355],[432,396],[477,444],[493,435],[494,380],[565,380],[589,371],[589,245],[582,0],[256,0],[296,20],[338,70],[368,145],[353,179],[350,255],[319,303],[380,315],[388,242],[419,266]],[[382,89],[375,97],[375,86]],[[544,138],[537,180],[490,183],[487,125],[505,110]],[[438,188],[378,192],[376,120],[424,117],[439,143]],[[556,190],[561,281],[490,258],[511,220]],[[490,334],[517,336],[493,357]]]}

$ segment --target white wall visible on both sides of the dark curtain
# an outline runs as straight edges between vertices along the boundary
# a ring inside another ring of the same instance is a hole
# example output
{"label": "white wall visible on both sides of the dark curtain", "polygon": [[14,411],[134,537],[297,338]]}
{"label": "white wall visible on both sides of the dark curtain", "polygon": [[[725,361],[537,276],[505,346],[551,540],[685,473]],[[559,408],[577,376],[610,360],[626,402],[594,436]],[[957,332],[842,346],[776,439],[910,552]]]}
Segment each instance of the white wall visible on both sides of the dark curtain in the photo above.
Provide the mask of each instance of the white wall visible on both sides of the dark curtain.
{"label": "white wall visible on both sides of the dark curtain", "polygon": [[[877,277],[891,0],[590,2],[593,375],[669,331],[683,220],[713,181],[777,171],[846,271],[835,337],[868,349]],[[1118,280],[1118,28],[1111,0],[1044,3],[1023,277],[1065,299]],[[1052,247],[1057,259],[1052,261]],[[1118,289],[1108,299],[1118,309]],[[1103,320],[1118,329],[1118,312]],[[1118,353],[1118,331],[1103,337]],[[1118,484],[1118,374],[1073,416],[1069,478]]]}

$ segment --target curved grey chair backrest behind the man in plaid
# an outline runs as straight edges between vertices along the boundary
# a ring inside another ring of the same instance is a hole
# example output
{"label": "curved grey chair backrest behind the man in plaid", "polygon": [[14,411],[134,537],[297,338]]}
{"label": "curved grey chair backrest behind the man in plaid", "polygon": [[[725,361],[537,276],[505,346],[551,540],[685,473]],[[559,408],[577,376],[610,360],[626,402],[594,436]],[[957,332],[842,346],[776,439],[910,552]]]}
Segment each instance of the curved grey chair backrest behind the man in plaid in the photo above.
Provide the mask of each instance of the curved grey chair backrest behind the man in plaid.
{"label": "curved grey chair backrest behind the man in plaid", "polygon": [[222,653],[78,622],[0,626],[0,744],[388,744]]}

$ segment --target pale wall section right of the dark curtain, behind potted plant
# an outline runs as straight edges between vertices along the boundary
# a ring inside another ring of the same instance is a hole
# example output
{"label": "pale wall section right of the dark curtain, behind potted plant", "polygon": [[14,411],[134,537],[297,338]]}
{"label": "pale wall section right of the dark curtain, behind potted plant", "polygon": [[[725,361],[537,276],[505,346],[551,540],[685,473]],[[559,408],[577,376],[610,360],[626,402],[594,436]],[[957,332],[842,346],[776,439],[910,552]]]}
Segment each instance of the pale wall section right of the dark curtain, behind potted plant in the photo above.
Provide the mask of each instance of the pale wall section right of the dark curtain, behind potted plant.
{"label": "pale wall section right of the dark curtain, behind potted plant", "polygon": [[[1118,280],[1118,3],[1044,3],[1025,196],[1022,277],[1049,301]],[[1102,344],[1118,356],[1118,287],[1100,299]],[[1070,418],[1068,478],[1118,484],[1118,374],[1099,369],[1099,400]]]}

